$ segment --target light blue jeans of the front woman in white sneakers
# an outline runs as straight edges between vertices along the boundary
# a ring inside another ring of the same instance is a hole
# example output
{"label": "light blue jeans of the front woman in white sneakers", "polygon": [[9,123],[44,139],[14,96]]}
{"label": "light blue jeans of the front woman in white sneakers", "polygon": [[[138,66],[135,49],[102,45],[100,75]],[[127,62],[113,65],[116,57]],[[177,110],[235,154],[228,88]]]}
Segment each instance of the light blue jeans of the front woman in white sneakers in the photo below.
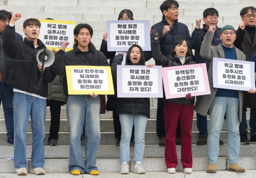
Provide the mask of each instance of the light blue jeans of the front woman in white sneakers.
{"label": "light blue jeans of the front woman in white sneakers", "polygon": [[119,114],[121,123],[120,158],[121,162],[130,161],[130,139],[134,125],[134,160],[142,161],[145,149],[145,131],[148,117],[143,115]]}

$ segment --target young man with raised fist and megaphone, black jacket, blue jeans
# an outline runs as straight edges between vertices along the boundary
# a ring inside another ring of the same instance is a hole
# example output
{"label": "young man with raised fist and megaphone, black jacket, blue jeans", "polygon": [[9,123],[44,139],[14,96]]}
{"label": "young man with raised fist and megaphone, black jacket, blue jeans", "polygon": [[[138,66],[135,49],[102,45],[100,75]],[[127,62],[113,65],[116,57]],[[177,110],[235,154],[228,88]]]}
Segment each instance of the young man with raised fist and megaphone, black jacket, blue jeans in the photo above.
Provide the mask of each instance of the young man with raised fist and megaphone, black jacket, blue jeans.
{"label": "young man with raised fist and megaphone, black jacket, blue jeans", "polygon": [[23,23],[23,32],[26,35],[24,43],[16,40],[14,24],[21,17],[21,14],[14,13],[2,35],[4,52],[15,60],[12,62],[12,70],[7,80],[7,84],[14,88],[14,167],[17,168],[18,175],[27,174],[26,133],[31,115],[33,134],[31,173],[44,174],[42,167],[44,166],[46,97],[48,82],[52,82],[56,74],[50,71],[50,67],[42,68],[36,60],[36,53],[46,48],[44,43],[37,39],[41,26],[39,20],[25,20]]}

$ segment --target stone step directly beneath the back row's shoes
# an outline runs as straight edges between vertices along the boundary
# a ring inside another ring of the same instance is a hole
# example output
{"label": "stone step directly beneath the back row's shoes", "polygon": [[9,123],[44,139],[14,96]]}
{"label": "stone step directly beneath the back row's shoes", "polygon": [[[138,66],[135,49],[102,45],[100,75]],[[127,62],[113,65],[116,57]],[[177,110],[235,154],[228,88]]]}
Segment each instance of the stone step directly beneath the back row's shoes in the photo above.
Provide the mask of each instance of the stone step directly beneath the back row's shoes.
{"label": "stone step directly beneath the back row's shoes", "polygon": [[[144,150],[144,158],[164,158],[164,146],[146,145]],[[181,145],[176,146],[177,156],[181,156]],[[14,147],[0,145],[0,159],[13,158]],[[58,145],[52,147],[45,145],[45,158],[69,158],[69,145]],[[31,158],[32,146],[27,145],[27,158]],[[82,145],[82,155],[84,155],[84,145]],[[193,157],[207,157],[207,145],[192,144]],[[256,145],[240,145],[240,156],[256,155]],[[220,145],[219,156],[228,156],[227,144]],[[130,157],[134,158],[134,147],[130,147]],[[120,147],[115,145],[100,145],[97,152],[97,158],[120,158]]]}

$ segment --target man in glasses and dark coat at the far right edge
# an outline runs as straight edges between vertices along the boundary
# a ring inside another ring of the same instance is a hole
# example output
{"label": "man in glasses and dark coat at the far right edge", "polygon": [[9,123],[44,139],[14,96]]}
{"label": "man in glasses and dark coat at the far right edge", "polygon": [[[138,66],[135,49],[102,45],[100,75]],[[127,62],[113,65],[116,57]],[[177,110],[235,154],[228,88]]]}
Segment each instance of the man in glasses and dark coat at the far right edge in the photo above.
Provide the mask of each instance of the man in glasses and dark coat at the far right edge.
{"label": "man in glasses and dark coat at the far right edge", "polygon": [[[240,11],[242,23],[239,24],[237,30],[237,37],[234,42],[235,47],[240,49],[246,55],[246,61],[256,53],[256,8],[245,7]],[[240,144],[249,145],[256,144],[256,94],[244,92],[243,108],[242,108],[242,122],[239,126]],[[246,122],[246,111],[250,108],[250,141],[247,137],[248,128]]]}

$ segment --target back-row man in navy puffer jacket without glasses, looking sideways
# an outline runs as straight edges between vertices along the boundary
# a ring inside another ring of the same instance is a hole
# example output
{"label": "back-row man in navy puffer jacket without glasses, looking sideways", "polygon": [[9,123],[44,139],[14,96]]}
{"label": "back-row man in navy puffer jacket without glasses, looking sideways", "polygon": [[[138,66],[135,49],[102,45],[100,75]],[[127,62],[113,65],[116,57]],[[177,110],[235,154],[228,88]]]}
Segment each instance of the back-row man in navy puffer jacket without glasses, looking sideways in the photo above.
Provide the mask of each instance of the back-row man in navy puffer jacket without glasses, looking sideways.
{"label": "back-row man in navy puffer jacket without glasses, looking sideways", "polygon": [[[161,4],[163,18],[161,22],[156,23],[151,29],[156,29],[159,34],[159,41],[162,54],[169,57],[172,50],[173,42],[179,38],[184,37],[188,40],[190,45],[191,37],[187,25],[178,22],[179,4],[175,0],[166,0]],[[151,41],[154,37],[151,35]],[[157,63],[156,63],[157,65]],[[178,126],[179,127],[179,126]],[[165,127],[164,127],[164,101],[163,98],[158,98],[157,113],[156,113],[156,133],[159,137],[159,145],[165,145]],[[181,137],[177,134],[177,137]],[[181,140],[180,140],[181,144]]]}

